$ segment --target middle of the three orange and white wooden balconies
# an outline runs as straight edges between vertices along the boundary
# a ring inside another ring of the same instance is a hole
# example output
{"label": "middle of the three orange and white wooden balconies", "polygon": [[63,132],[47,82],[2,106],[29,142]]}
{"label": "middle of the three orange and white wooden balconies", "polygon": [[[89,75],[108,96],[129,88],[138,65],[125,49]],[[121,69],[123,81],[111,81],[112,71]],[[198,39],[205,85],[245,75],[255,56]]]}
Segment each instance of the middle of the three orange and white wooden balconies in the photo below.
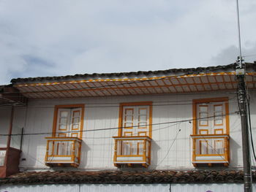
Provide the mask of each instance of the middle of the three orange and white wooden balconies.
{"label": "middle of the three orange and white wooden balconies", "polygon": [[151,161],[150,137],[113,137],[115,139],[114,164],[148,167]]}

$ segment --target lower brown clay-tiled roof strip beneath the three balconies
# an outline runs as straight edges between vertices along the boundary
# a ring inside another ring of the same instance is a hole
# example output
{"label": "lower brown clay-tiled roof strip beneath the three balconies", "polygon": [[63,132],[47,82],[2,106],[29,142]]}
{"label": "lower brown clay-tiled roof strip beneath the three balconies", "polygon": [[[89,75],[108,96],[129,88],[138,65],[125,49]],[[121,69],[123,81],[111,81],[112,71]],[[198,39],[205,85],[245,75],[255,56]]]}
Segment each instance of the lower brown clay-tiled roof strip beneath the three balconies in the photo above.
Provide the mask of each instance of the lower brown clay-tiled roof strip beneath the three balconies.
{"label": "lower brown clay-tiled roof strip beneath the three balconies", "polygon": [[[242,171],[100,171],[23,172],[0,179],[1,184],[146,184],[241,183]],[[253,172],[256,180],[256,172]]]}

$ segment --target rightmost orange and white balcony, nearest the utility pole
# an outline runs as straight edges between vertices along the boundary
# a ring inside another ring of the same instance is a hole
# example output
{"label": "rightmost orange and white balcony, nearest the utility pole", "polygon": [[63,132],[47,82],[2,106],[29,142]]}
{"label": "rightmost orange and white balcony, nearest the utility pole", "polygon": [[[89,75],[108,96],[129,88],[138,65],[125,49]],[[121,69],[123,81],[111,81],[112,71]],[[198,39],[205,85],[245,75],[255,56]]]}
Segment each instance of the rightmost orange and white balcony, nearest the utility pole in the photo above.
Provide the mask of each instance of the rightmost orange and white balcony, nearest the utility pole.
{"label": "rightmost orange and white balcony, nearest the utility pole", "polygon": [[229,164],[229,136],[227,134],[191,135],[192,164]]}

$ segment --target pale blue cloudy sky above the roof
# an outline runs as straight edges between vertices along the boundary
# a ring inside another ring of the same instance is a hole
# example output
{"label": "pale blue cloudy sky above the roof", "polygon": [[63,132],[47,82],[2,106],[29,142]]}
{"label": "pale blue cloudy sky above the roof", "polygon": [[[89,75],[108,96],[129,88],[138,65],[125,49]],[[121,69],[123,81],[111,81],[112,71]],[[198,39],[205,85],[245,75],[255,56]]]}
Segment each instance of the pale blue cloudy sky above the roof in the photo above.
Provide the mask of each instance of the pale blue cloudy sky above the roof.
{"label": "pale blue cloudy sky above the roof", "polygon": [[[256,61],[256,1],[239,1]],[[232,64],[236,0],[0,0],[0,84],[12,78]]]}

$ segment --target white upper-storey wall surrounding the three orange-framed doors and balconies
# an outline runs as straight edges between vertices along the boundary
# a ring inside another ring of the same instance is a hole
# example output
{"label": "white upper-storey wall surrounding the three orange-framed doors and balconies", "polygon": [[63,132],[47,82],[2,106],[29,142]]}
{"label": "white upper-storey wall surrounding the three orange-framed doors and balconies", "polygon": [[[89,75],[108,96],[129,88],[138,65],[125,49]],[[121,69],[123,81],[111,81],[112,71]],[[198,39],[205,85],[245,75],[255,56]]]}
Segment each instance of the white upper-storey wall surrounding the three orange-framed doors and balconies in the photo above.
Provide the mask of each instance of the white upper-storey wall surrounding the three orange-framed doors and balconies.
{"label": "white upper-storey wall surrounding the three orange-framed doors and balconies", "polygon": [[[47,169],[45,137],[50,137],[54,106],[85,104],[83,147],[79,169],[116,169],[113,166],[113,136],[118,134],[118,110],[121,102],[153,101],[153,124],[192,119],[192,99],[225,97],[222,93],[117,96],[80,99],[29,101],[23,138],[22,169]],[[238,111],[236,95],[230,98],[230,113]],[[255,110],[253,111],[255,114]],[[256,119],[255,119],[256,120]],[[255,122],[256,123],[256,122]],[[255,124],[254,123],[254,124]],[[115,128],[95,131],[101,128]],[[181,129],[181,131],[178,131]],[[254,128],[255,129],[255,128]],[[178,135],[177,135],[178,133]],[[194,169],[192,166],[192,122],[154,125],[152,128],[151,166],[149,169]],[[230,115],[230,168],[242,166],[241,125],[237,114]],[[65,168],[67,169],[67,168]]]}

